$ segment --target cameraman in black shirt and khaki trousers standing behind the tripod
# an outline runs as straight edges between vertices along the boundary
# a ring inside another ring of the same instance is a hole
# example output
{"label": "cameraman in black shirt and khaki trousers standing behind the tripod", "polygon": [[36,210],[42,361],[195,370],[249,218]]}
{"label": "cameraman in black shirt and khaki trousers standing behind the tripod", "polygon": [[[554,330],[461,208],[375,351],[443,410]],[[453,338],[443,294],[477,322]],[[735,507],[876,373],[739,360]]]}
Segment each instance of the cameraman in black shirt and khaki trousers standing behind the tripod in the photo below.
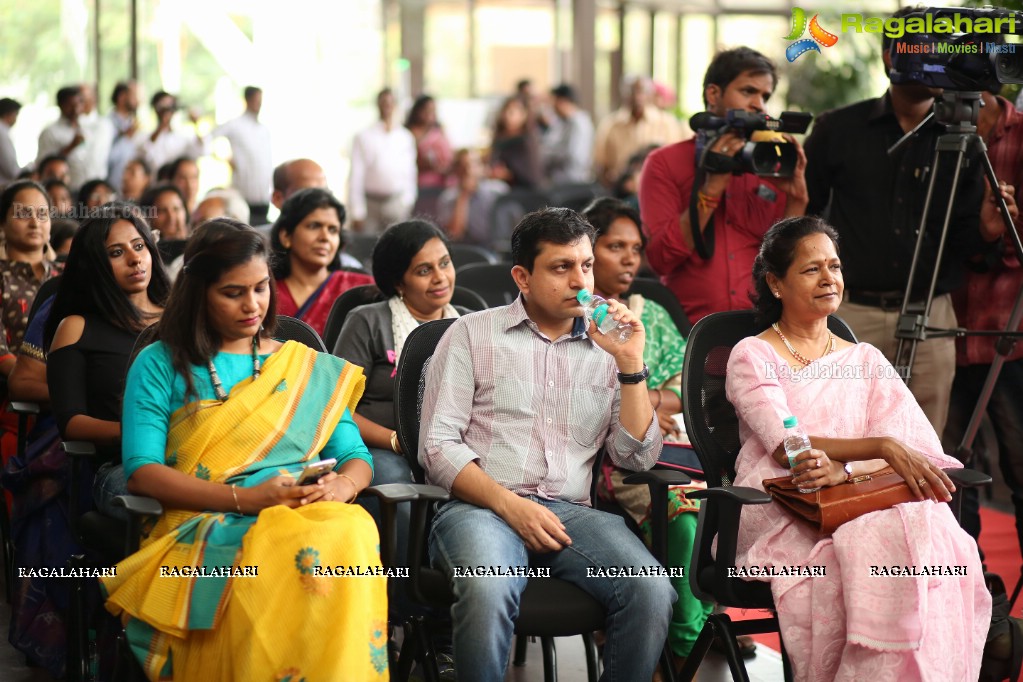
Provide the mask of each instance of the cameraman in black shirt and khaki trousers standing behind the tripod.
{"label": "cameraman in black shirt and khaki trousers standing behind the tripod", "polygon": [[[895,13],[901,16],[914,8]],[[891,71],[892,40],[884,36],[882,57]],[[929,121],[892,155],[888,148],[930,113],[941,89],[892,83],[877,99],[820,115],[806,140],[807,215],[825,217],[841,238],[845,299],[838,314],[861,342],[895,361],[895,327],[909,276],[934,150],[945,127]],[[971,147],[955,196],[951,179],[955,155],[943,152],[911,302],[923,302],[937,265],[937,248],[947,201],[953,202],[944,257],[928,326],[955,327],[949,292],[963,283],[968,265],[996,253],[1005,225],[991,201],[982,201],[986,181],[979,151]],[[983,202],[983,209],[982,207]],[[904,371],[903,368],[899,368]],[[934,429],[941,434],[955,372],[952,338],[929,338],[917,347],[909,384]]]}

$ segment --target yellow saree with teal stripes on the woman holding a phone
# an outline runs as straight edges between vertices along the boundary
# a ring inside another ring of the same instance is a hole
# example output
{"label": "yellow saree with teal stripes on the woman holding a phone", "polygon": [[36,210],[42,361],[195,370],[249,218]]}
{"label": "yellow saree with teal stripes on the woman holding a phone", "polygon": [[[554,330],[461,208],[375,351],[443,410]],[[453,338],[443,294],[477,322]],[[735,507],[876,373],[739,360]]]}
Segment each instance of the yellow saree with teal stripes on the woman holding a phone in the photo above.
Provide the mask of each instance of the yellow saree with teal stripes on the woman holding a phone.
{"label": "yellow saree with teal stripes on the woman holding a phone", "polygon": [[[364,383],[359,367],[285,344],[224,403],[176,411],[166,463],[237,486],[296,474]],[[386,579],[320,575],[379,566],[379,542],[369,514],[341,502],[258,517],[169,509],[101,582],[151,680],[385,680]]]}

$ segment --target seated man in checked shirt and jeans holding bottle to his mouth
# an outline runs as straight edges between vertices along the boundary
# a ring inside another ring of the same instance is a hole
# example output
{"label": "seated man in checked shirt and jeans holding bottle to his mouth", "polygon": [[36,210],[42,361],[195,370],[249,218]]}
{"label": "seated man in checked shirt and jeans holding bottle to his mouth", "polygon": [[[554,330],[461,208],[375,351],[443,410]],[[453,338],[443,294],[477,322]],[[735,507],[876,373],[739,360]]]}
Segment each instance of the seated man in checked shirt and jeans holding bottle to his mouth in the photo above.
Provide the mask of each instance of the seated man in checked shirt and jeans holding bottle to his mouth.
{"label": "seated man in checked shirt and jeans holding bottle to his mouth", "polygon": [[[661,431],[639,319],[611,304],[633,328],[617,344],[576,302],[593,287],[592,240],[592,227],[571,210],[526,216],[511,236],[520,297],[459,318],[438,346],[419,452],[428,481],[452,500],[434,519],[430,555],[448,575],[465,565],[549,569],[607,609],[602,679],[649,680],[676,595],[666,576],[595,571],[657,562],[620,517],[590,507],[589,484],[602,446],[619,466],[648,469]],[[455,670],[504,679],[526,581],[452,578]]]}

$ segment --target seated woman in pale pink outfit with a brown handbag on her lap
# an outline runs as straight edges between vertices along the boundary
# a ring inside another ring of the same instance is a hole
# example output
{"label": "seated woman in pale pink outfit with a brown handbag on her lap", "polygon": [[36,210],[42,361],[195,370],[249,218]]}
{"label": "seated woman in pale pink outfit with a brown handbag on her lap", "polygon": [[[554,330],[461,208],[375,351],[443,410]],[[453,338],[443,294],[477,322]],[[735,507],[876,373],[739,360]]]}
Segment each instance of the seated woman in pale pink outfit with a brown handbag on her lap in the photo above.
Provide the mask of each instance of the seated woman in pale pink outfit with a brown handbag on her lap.
{"label": "seated woman in pale pink outfit with a brown handbag on her lap", "polygon": [[[831,537],[777,504],[743,509],[737,564],[819,566],[771,584],[796,680],[976,680],[991,617],[974,541],[945,501],[942,468],[961,464],[873,346],[834,337],[843,280],[834,230],[815,218],[775,225],[754,265],[757,308],[776,324],[737,344],[726,392],[740,420],[736,485],[794,475],[844,485],[885,466],[920,499],[860,516]],[[790,469],[783,420],[813,449]],[[892,574],[914,572],[914,577]],[[880,575],[879,575],[880,574]],[[933,575],[937,574],[937,575]]]}

